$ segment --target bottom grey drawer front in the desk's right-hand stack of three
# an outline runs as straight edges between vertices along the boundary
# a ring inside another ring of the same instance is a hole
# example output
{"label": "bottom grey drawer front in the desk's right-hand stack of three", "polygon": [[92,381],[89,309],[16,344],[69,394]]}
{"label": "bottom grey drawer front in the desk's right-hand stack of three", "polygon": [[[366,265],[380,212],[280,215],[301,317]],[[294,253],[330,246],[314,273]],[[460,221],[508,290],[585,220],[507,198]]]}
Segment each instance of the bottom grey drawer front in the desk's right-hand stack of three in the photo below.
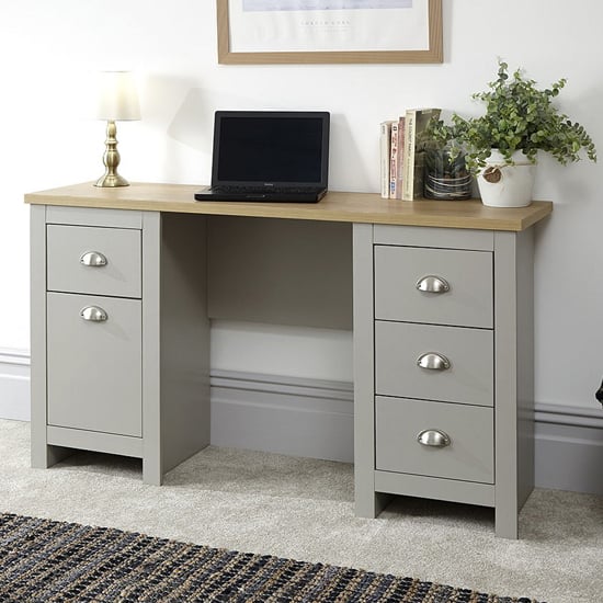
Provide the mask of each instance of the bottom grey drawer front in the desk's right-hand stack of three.
{"label": "bottom grey drawer front in the desk's right-hand stack of three", "polygon": [[[424,430],[439,430],[450,444],[420,444]],[[376,399],[376,468],[421,476],[493,483],[493,410],[482,407]]]}

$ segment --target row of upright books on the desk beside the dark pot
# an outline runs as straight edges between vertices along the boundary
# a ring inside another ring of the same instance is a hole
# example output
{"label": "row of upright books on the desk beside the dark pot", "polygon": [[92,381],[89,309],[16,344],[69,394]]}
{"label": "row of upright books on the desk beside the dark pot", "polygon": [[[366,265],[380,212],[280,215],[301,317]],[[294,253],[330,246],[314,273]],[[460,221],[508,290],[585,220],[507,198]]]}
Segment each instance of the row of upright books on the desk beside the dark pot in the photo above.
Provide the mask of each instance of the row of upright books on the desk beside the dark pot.
{"label": "row of upright books on the desk beside the dark pot", "polygon": [[424,196],[424,145],[421,134],[440,109],[409,109],[380,124],[380,192],[384,198],[413,201]]}

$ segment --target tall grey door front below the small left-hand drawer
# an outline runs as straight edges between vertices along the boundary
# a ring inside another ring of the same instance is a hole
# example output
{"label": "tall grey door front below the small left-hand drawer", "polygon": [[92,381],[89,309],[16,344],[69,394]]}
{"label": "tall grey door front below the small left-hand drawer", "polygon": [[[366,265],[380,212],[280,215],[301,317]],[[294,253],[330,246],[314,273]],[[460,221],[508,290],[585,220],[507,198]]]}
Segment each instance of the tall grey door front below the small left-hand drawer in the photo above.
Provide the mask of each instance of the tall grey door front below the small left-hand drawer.
{"label": "tall grey door front below the small left-hand drawer", "polygon": [[47,312],[48,424],[140,437],[141,302],[48,293]]}

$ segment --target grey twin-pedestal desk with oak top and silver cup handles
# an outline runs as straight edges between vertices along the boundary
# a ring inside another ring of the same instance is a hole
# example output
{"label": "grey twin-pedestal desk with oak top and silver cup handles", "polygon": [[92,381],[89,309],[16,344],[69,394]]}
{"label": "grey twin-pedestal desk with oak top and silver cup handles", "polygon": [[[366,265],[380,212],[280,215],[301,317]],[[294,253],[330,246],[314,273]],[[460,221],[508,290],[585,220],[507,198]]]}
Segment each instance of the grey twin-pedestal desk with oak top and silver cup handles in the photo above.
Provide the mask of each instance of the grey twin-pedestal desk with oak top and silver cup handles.
{"label": "grey twin-pedestal desk with oak top and silver cup handles", "polygon": [[376,516],[387,494],[467,502],[516,537],[534,483],[532,227],[551,204],[200,203],[197,189],[25,195],[32,465],[93,450],[141,458],[160,485],[209,443],[212,216],[348,223],[356,513]]}

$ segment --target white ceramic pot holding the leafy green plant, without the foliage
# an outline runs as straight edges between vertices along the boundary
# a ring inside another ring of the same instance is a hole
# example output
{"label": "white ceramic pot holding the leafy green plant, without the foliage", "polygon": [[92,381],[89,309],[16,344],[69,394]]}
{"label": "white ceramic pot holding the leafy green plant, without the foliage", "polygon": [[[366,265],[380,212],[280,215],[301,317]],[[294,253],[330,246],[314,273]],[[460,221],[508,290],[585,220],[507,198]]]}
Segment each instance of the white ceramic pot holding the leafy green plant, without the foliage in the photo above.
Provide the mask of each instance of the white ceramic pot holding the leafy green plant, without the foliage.
{"label": "white ceramic pot holding the leafy green plant, without the foliage", "polygon": [[522,151],[512,155],[507,166],[500,151],[492,149],[486,167],[477,175],[481,203],[490,207],[525,207],[532,203],[536,164]]}

